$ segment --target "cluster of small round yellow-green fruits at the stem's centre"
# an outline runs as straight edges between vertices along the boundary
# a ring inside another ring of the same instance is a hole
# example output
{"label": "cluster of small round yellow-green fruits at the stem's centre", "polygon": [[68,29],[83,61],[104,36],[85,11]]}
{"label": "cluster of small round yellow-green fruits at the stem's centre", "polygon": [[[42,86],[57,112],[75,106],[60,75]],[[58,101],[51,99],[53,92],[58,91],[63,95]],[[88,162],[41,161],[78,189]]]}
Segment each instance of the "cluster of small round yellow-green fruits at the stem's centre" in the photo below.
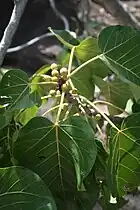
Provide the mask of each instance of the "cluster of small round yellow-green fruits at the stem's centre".
{"label": "cluster of small round yellow-green fruits at the stem's centre", "polygon": [[[60,96],[61,92],[70,92],[71,94],[77,94],[77,89],[70,90],[68,84],[68,69],[65,67],[59,68],[55,63],[51,64],[51,76],[46,75],[51,82],[56,82],[56,88],[49,91],[49,96]],[[46,79],[47,79],[46,78]]]}

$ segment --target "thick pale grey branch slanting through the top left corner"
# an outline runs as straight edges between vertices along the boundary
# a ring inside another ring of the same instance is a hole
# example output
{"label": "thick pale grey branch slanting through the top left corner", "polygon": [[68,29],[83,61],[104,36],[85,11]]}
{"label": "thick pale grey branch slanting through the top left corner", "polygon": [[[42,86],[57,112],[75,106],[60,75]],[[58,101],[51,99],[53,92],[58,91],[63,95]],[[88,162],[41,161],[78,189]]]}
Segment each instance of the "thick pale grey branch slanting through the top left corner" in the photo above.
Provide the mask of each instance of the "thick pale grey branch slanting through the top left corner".
{"label": "thick pale grey branch slanting through the top left corner", "polygon": [[5,54],[11,45],[27,2],[28,0],[14,0],[14,9],[0,42],[0,66],[2,65]]}

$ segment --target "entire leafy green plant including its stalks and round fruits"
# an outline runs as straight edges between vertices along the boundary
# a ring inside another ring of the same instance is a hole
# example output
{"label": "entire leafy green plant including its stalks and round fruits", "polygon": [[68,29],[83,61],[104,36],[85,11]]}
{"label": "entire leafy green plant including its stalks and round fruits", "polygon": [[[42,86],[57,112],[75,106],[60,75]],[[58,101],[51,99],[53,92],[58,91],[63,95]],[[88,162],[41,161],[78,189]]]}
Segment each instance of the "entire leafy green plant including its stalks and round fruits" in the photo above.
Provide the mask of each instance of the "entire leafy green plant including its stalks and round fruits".
{"label": "entire leafy green plant including its stalks and round fruits", "polygon": [[50,30],[58,64],[1,74],[0,208],[119,209],[140,185],[140,32]]}

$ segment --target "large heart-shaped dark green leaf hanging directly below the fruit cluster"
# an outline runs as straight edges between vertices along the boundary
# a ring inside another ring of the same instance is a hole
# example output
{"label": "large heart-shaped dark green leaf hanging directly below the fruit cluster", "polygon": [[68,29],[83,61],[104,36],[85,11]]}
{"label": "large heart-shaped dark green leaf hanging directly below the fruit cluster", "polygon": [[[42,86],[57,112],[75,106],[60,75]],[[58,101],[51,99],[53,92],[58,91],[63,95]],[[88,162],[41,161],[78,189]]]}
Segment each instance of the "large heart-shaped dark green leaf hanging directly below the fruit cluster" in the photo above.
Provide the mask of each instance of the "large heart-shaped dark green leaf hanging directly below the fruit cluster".
{"label": "large heart-shaped dark green leaf hanging directly below the fruit cluster", "polygon": [[76,178],[80,190],[96,153],[93,130],[78,116],[59,126],[43,117],[33,118],[21,129],[14,146],[14,157],[38,173],[53,192],[76,190]]}

